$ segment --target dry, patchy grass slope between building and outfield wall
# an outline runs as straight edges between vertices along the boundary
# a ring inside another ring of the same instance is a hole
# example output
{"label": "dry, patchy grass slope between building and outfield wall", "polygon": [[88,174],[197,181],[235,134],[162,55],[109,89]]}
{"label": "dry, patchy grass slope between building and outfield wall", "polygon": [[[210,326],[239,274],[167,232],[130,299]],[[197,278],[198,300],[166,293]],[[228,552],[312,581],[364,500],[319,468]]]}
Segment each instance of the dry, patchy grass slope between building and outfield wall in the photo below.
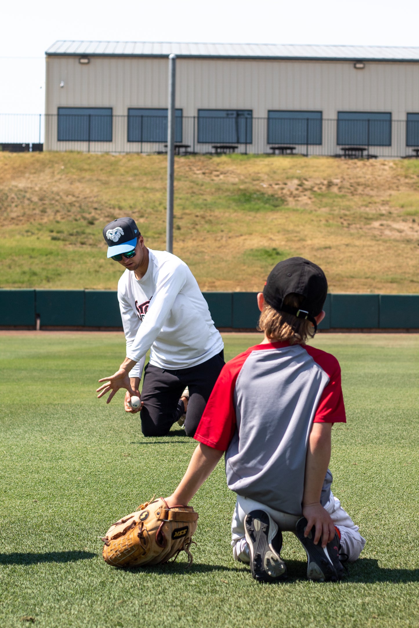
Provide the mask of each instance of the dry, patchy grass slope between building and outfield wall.
{"label": "dry, patchy grass slope between building and outfield wall", "polygon": [[[175,163],[175,253],[202,290],[258,290],[291,254],[330,290],[417,292],[419,163],[188,156]],[[4,287],[115,288],[101,229],[133,215],[165,246],[164,156],[0,154]]]}

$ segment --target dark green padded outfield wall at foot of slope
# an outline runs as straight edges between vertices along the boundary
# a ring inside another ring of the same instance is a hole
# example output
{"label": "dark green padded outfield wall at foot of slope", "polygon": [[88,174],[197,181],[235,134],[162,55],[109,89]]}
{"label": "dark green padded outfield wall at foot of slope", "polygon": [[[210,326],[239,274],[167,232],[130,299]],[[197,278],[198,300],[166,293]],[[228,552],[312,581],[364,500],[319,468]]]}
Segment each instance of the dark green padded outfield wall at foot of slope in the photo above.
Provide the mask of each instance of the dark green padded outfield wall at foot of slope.
{"label": "dark green padded outfield wall at foot of slope", "polygon": [[[204,292],[216,327],[254,329],[256,292]],[[419,295],[327,295],[320,329],[417,329]],[[121,328],[113,290],[0,290],[0,327]]]}

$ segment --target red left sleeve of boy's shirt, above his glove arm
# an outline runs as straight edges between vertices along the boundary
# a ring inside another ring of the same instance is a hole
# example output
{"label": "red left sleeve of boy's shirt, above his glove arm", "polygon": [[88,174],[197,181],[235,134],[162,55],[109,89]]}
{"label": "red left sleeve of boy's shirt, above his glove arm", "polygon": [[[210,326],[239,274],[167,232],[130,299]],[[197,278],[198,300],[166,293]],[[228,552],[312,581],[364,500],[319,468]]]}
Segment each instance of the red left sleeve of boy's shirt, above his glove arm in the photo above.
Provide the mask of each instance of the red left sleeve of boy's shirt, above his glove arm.
{"label": "red left sleeve of boy's shirt, above his glove arm", "polygon": [[222,452],[229,447],[236,430],[234,388],[251,350],[252,347],[227,362],[220,372],[194,436],[203,445]]}

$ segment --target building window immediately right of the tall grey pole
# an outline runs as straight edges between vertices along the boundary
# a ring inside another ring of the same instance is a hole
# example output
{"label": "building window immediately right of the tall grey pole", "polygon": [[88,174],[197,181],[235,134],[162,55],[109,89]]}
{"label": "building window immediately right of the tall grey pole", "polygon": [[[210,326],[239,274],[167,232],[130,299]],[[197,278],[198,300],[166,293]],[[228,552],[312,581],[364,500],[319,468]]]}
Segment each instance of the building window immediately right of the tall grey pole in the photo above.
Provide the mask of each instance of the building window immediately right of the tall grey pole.
{"label": "building window immediately right of the tall grey pole", "polygon": [[238,109],[199,109],[198,141],[202,144],[251,144],[252,112]]}

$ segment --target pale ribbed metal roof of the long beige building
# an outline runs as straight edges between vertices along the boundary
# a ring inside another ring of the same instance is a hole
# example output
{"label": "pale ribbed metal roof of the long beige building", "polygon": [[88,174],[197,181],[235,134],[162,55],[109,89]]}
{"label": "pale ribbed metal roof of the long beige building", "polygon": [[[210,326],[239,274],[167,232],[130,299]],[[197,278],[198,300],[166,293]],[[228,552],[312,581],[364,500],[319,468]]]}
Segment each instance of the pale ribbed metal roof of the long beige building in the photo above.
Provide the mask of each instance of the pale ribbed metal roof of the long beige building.
{"label": "pale ribbed metal roof of the long beige building", "polygon": [[170,41],[56,41],[46,55],[127,57],[219,57],[419,61],[419,47],[317,46],[254,43],[179,43]]}

